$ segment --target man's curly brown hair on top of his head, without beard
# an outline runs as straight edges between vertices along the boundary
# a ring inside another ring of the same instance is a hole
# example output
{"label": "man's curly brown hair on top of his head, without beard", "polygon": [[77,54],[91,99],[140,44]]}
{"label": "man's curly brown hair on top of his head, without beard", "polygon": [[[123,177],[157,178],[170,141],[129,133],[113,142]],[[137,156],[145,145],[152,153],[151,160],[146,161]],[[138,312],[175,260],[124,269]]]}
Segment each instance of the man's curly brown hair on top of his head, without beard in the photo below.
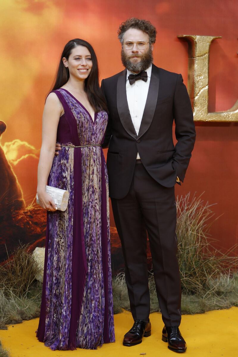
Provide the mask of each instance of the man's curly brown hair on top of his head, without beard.
{"label": "man's curly brown hair on top of his head, without beard", "polygon": [[138,29],[145,32],[146,34],[149,35],[150,44],[155,43],[156,34],[157,34],[155,26],[153,26],[150,21],[140,20],[137,19],[136,17],[131,17],[130,19],[127,19],[125,22],[122,22],[117,31],[118,39],[120,40],[121,44],[123,44],[123,36],[125,32],[131,28]]}

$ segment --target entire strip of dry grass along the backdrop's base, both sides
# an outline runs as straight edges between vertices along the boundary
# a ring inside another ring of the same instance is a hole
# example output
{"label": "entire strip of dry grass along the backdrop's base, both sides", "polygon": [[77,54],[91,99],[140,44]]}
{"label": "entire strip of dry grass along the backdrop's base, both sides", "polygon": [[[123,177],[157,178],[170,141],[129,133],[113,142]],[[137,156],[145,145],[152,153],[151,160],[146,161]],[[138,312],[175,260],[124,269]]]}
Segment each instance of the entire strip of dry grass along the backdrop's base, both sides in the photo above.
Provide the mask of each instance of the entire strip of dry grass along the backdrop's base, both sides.
{"label": "entire strip of dry grass along the backdrop's base, both sides", "polygon": [[[201,196],[177,197],[178,260],[181,273],[182,313],[202,313],[238,306],[238,257],[232,249],[222,253],[213,247],[208,230],[212,205]],[[0,265],[0,328],[30,320],[40,314],[42,284],[28,246],[19,247]],[[151,312],[159,311],[153,272],[150,272]],[[113,278],[114,313],[130,310],[125,274]],[[4,356],[4,355],[2,355]],[[0,355],[1,357],[1,355]]]}

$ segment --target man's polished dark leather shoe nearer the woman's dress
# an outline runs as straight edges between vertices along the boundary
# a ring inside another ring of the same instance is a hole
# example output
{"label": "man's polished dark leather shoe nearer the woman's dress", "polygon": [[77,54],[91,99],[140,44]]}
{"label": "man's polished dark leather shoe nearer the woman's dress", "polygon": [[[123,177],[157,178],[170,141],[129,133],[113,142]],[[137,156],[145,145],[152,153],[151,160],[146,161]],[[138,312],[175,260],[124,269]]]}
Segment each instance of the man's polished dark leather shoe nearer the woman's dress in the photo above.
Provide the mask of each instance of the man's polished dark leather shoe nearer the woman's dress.
{"label": "man's polished dark leather shoe nearer the woman's dress", "polygon": [[151,323],[145,320],[136,320],[130,331],[126,333],[123,346],[135,346],[142,342],[143,337],[151,335]]}

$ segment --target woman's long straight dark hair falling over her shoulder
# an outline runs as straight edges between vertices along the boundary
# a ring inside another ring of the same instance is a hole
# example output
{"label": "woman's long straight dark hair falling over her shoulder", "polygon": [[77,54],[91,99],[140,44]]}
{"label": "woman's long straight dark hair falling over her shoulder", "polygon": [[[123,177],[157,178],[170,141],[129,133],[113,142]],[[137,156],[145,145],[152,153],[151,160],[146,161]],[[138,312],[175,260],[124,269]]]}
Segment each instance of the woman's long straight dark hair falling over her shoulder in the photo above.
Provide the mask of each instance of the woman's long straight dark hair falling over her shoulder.
{"label": "woman's long straight dark hair falling over her shoulder", "polygon": [[76,46],[84,46],[88,49],[92,57],[92,70],[85,80],[85,92],[88,96],[88,101],[90,102],[93,109],[98,112],[100,110],[107,111],[107,105],[105,97],[99,86],[98,81],[98,64],[97,57],[92,48],[92,46],[84,40],[74,39],[70,40],[66,45],[61,54],[59,66],[56,72],[56,78],[51,91],[59,89],[69,80],[69,69],[64,66],[62,59],[65,57],[68,60],[72,49]]}

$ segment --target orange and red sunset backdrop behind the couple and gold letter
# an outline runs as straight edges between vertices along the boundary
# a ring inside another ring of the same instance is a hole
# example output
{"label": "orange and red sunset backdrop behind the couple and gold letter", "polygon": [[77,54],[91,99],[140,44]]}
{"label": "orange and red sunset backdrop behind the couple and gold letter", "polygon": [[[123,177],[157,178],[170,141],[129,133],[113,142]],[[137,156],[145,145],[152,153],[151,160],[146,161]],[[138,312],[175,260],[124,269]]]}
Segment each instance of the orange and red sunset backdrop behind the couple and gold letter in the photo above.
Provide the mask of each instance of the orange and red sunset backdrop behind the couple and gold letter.
{"label": "orange and red sunset backdrop behind the couple and gold letter", "polygon": [[[70,39],[79,37],[92,44],[102,79],[123,69],[119,24],[132,16],[148,19],[158,31],[154,63],[181,73],[187,85],[188,45],[177,35],[222,36],[210,50],[209,110],[227,110],[237,100],[236,0],[9,0],[0,4],[0,11],[0,120],[7,124],[0,140],[27,204],[36,192],[45,96]],[[197,123],[196,130],[191,163],[176,194],[204,192],[204,201],[217,203],[213,210],[222,216],[211,234],[218,246],[229,248],[237,243],[238,124]]]}

